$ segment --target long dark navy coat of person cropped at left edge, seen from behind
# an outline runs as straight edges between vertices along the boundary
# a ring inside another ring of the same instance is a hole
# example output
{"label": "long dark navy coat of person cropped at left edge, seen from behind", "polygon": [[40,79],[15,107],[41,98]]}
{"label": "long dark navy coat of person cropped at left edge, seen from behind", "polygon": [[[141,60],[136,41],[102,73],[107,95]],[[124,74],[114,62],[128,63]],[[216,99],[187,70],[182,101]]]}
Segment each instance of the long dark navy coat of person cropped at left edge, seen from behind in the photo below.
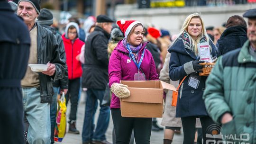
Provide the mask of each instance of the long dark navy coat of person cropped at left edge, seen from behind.
{"label": "long dark navy coat of person cropped at left edge, seen from behind", "polygon": [[[30,37],[22,18],[0,1],[0,143],[24,143],[20,81],[25,76]],[[13,135],[15,134],[15,138]]]}

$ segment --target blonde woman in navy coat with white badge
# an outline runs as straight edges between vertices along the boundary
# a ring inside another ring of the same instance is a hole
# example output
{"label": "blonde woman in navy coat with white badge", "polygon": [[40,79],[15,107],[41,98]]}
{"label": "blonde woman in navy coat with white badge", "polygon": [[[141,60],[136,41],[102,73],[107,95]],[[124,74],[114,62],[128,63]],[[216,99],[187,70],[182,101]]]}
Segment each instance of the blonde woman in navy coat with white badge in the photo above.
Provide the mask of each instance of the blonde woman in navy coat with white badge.
{"label": "blonde woman in navy coat with white badge", "polygon": [[[199,117],[203,132],[204,144],[207,140],[207,127],[214,124],[205,109],[202,94],[207,76],[199,76],[204,61],[200,57],[197,44],[207,42],[210,54],[216,56],[216,48],[206,33],[201,16],[198,13],[189,15],[181,29],[181,33],[169,48],[171,53],[169,76],[172,81],[185,80],[179,89],[176,117],[181,117],[183,126],[183,144],[193,144],[196,118]],[[194,80],[194,81],[192,81]]]}

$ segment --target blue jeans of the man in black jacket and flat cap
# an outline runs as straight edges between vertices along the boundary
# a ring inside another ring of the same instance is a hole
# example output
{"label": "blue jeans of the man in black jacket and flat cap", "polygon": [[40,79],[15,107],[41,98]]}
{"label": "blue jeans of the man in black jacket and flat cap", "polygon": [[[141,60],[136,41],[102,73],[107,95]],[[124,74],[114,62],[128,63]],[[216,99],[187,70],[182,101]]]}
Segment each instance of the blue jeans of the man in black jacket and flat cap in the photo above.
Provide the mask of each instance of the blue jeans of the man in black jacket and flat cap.
{"label": "blue jeans of the man in black jacket and flat cap", "polygon": [[98,107],[98,99],[100,103],[103,99],[105,90],[88,89],[85,105],[85,115],[82,128],[82,142],[90,142],[91,140],[106,140],[105,133],[110,121],[110,107],[101,106],[97,127],[94,131],[94,115]]}

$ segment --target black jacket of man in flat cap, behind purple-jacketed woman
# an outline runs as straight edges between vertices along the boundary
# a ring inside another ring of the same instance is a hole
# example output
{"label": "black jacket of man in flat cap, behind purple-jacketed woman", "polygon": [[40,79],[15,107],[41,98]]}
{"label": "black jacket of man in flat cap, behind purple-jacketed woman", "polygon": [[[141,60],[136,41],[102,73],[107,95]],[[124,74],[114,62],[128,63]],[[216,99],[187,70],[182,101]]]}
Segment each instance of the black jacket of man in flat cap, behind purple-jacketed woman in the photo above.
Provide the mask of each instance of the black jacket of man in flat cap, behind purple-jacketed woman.
{"label": "black jacket of man in flat cap, behind purple-jacketed woman", "polygon": [[84,52],[82,87],[105,90],[108,77],[108,40],[110,34],[96,26],[88,36]]}

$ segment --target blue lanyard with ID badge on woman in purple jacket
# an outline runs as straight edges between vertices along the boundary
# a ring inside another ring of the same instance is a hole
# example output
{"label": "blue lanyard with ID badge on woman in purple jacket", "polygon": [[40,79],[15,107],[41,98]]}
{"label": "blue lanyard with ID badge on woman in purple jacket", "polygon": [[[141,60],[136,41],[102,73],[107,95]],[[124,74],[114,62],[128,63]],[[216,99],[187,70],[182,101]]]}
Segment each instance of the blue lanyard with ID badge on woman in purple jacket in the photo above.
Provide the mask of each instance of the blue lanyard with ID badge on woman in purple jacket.
{"label": "blue lanyard with ID badge on woman in purple jacket", "polygon": [[137,69],[138,69],[138,73],[135,73],[134,76],[133,76],[134,81],[146,81],[145,74],[139,72],[139,67],[140,67],[140,65],[142,63],[142,60],[143,60],[143,57],[144,57],[144,53],[145,53],[145,49],[143,50],[143,53],[141,55],[141,58],[140,58],[139,62],[136,62],[134,54],[132,53],[132,51],[130,49],[130,46],[128,44],[127,44],[127,49],[129,51],[130,56],[132,57],[133,62],[135,63],[135,65],[137,66]]}

